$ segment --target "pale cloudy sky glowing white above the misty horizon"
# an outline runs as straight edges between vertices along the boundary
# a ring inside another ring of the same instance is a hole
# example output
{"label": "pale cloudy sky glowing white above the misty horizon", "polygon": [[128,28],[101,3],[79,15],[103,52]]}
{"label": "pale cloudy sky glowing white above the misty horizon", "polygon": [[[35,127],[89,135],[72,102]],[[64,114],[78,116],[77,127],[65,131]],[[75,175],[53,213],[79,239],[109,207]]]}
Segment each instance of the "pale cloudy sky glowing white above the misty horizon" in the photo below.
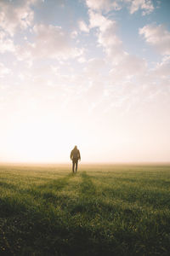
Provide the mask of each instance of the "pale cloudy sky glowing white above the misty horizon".
{"label": "pale cloudy sky glowing white above the misty horizon", "polygon": [[0,161],[170,162],[169,0],[0,0]]}

